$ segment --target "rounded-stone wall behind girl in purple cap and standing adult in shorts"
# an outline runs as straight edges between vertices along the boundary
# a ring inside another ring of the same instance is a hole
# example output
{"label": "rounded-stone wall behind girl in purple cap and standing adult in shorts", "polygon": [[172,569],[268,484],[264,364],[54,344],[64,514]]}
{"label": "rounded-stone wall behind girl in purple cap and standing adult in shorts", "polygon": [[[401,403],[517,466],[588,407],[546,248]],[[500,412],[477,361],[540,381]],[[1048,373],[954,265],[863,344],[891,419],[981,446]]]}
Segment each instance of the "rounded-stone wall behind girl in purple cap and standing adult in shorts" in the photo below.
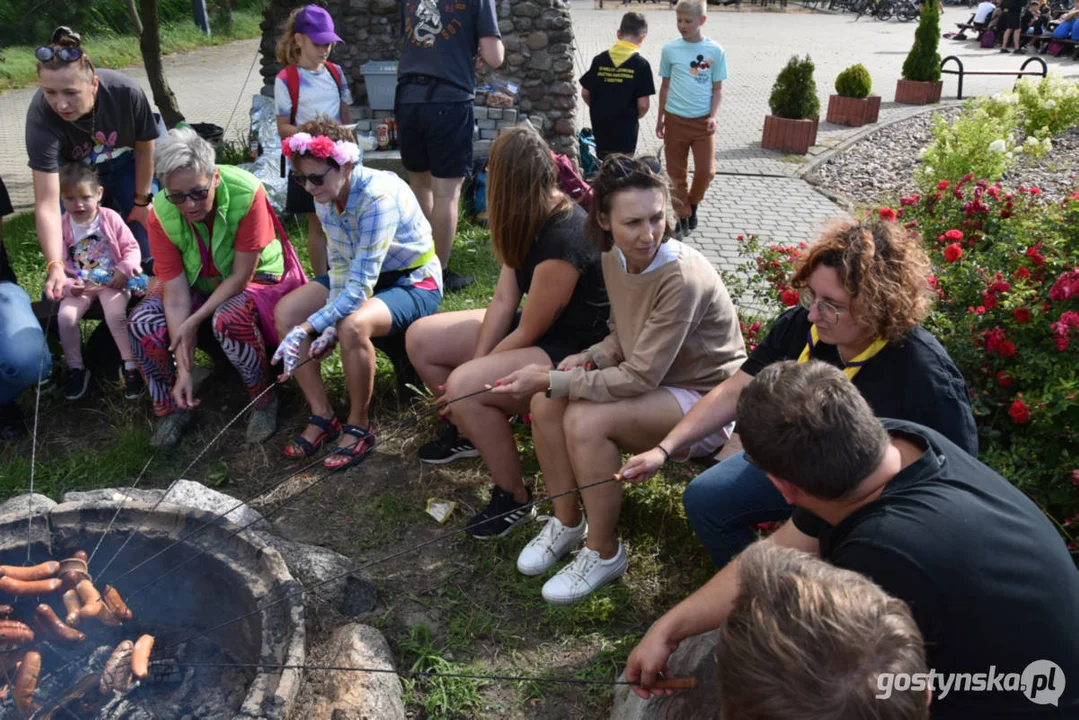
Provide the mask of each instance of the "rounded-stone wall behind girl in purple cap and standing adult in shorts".
{"label": "rounded-stone wall behind girl in purple cap and standing adult in shorts", "polygon": [[[573,64],[573,27],[568,0],[495,0],[498,29],[506,46],[506,60],[496,73],[518,86],[515,108],[476,108],[479,137],[477,154],[487,154],[491,141],[505,127],[528,119],[558,152],[577,158],[577,84]],[[262,78],[273,93],[279,71],[274,45],[288,13],[302,0],[271,0],[262,22]],[[400,56],[400,14],[396,0],[324,0],[333,16],[337,32],[345,42],[333,50],[332,59],[345,72],[353,99],[367,103],[360,66],[368,60]],[[492,71],[477,72],[476,82],[490,82]],[[373,113],[378,118],[385,113]],[[366,123],[365,123],[366,124]],[[359,127],[364,132],[364,127]]]}

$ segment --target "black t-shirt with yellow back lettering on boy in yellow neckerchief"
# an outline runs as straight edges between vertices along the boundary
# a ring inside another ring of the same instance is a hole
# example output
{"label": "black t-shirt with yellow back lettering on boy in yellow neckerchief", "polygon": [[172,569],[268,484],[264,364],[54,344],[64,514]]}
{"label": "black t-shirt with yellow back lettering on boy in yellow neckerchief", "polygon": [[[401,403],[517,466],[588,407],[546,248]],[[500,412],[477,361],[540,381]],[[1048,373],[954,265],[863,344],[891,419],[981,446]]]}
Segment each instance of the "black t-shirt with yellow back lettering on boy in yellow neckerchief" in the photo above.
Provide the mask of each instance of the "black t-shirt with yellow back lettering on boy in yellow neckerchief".
{"label": "black t-shirt with yellow back lettering on boy in yellow neckerchief", "polygon": [[636,53],[616,67],[610,51],[603,51],[581,77],[581,86],[591,95],[588,113],[596,149],[632,154],[640,132],[637,99],[656,94],[648,60]]}

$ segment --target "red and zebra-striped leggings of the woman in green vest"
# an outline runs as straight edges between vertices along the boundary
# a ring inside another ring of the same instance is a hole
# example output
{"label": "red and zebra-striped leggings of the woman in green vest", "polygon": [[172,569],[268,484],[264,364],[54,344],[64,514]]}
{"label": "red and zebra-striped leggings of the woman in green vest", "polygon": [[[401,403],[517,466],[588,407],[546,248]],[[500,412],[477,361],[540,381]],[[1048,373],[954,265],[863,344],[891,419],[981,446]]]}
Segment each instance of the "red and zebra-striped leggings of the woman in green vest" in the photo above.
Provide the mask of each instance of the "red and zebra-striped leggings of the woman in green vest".
{"label": "red and zebra-striped leggings of the woman in green vest", "polygon": [[[191,311],[202,307],[207,297],[192,290]],[[132,310],[127,323],[135,359],[153,399],[154,415],[166,416],[176,409],[172,393],[176,382],[176,365],[173,354],[168,352],[168,325],[161,295],[148,296],[138,303]],[[271,383],[267,347],[259,329],[259,313],[255,301],[247,293],[235,295],[214,311],[211,323],[214,337],[233,367],[240,371],[248,394],[254,398]],[[273,394],[267,393],[256,407],[265,407],[272,399]]]}

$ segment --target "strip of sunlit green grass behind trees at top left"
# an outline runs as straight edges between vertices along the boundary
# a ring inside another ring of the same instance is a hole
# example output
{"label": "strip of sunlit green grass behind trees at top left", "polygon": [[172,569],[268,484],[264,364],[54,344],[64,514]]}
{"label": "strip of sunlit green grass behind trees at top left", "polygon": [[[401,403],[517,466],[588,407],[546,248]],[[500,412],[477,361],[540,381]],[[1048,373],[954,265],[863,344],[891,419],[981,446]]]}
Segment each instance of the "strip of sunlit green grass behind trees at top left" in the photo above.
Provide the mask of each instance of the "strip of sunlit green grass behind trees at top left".
{"label": "strip of sunlit green grass behind trees at top left", "polygon": [[[203,35],[194,23],[182,21],[161,27],[161,51],[164,54],[182,53],[196,47],[222,45],[233,40],[257,38],[262,33],[259,23],[262,13],[257,10],[237,10],[231,26],[215,26],[213,36]],[[94,64],[103,68],[123,68],[141,65],[142,55],[135,35],[84,35],[82,46],[90,52]],[[33,45],[10,45],[3,49],[4,62],[0,63],[0,92],[27,87],[38,81]]]}

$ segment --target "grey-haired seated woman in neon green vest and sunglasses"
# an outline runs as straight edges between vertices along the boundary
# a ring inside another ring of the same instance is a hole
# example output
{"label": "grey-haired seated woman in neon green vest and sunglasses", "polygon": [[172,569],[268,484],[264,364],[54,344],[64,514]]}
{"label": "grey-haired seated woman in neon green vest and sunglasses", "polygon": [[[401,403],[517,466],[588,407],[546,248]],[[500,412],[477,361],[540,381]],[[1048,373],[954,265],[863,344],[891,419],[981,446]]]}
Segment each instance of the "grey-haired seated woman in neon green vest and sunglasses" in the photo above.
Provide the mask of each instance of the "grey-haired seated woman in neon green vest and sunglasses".
{"label": "grey-haired seated woman in neon green vest and sunglasses", "polygon": [[306,277],[258,178],[216,166],[214,148],[191,128],[169,131],[154,163],[165,189],[153,199],[150,247],[163,289],[129,317],[139,369],[161,418],[150,443],[174,447],[191,422],[199,406],[195,341],[207,321],[254,403],[247,441],[260,443],[277,419],[267,362],[268,348],[277,344],[273,308]]}

